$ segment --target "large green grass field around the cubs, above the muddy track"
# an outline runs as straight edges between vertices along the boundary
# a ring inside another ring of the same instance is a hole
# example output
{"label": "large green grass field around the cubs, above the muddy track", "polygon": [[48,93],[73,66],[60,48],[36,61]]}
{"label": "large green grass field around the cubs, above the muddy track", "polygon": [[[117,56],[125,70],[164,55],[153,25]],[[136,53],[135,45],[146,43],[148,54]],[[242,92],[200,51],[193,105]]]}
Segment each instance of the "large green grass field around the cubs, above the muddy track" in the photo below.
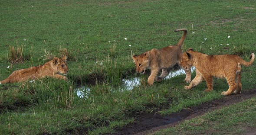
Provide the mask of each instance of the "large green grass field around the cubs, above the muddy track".
{"label": "large green grass field around the cubs, above the muddy track", "polygon": [[[1,3],[0,80],[60,56],[65,49],[70,59],[68,82],[45,78],[0,85],[0,134],[97,135],[133,122],[140,113],[160,110],[167,115],[222,98],[220,93],[228,89],[225,79],[214,79],[213,91],[207,93],[205,82],[184,90],[184,74],[149,87],[148,75],[134,73],[131,54],[176,44],[183,33],[175,29],[188,30],[184,51],[192,47],[209,55],[239,55],[246,61],[256,52],[255,0]],[[23,62],[11,64],[11,46],[23,47]],[[243,67],[243,90],[256,87],[255,69],[255,64]],[[122,79],[135,76],[141,80],[139,86],[113,89],[122,85]],[[77,85],[91,81],[96,83],[88,97],[77,96]]]}

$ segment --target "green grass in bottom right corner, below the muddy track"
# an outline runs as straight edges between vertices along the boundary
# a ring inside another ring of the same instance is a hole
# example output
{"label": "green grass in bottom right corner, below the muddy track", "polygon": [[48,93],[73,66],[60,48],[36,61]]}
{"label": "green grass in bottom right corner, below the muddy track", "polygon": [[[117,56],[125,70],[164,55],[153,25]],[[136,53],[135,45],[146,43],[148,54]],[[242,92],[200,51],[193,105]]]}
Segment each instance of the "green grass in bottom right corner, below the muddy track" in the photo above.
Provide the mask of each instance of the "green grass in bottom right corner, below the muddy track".
{"label": "green grass in bottom right corner, below the muddy track", "polygon": [[256,128],[255,101],[253,97],[154,132],[153,135],[242,135],[248,129]]}

